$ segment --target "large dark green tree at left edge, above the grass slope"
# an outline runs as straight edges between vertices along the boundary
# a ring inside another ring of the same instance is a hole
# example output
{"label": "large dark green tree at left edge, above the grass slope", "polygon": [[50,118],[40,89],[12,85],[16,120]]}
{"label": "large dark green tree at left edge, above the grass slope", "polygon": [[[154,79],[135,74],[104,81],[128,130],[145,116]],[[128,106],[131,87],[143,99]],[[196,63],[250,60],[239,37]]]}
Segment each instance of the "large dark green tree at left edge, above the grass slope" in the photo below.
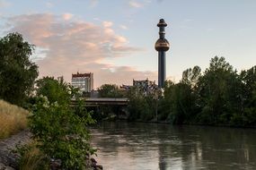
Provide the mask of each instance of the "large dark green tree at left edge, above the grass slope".
{"label": "large dark green tree at left edge, above the grass slope", "polygon": [[31,95],[38,66],[31,62],[34,46],[19,33],[0,38],[0,98],[22,106]]}

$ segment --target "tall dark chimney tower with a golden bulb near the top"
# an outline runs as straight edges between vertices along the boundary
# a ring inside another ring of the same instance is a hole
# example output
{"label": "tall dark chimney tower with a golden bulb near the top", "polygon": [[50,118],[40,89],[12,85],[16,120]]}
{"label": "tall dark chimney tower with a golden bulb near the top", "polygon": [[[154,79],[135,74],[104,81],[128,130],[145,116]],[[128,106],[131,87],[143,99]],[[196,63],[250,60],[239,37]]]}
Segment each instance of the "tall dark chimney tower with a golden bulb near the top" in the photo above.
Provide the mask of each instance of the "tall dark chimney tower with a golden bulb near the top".
{"label": "tall dark chimney tower with a golden bulb near the top", "polygon": [[164,81],[166,80],[166,66],[165,66],[165,51],[168,51],[170,48],[169,42],[165,39],[165,30],[167,23],[163,19],[157,23],[159,27],[159,38],[155,42],[154,48],[158,51],[158,87],[163,88]]}

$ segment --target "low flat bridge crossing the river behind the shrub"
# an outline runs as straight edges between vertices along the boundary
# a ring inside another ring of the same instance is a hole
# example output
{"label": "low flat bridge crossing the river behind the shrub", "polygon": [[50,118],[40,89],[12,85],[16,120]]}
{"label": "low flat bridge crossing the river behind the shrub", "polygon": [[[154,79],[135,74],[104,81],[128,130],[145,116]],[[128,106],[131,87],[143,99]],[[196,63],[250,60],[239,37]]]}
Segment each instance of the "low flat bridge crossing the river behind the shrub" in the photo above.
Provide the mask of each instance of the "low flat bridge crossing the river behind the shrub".
{"label": "low flat bridge crossing the river behind the shrub", "polygon": [[[128,98],[83,98],[85,106],[128,106]],[[77,100],[71,100],[71,106],[77,105]]]}

